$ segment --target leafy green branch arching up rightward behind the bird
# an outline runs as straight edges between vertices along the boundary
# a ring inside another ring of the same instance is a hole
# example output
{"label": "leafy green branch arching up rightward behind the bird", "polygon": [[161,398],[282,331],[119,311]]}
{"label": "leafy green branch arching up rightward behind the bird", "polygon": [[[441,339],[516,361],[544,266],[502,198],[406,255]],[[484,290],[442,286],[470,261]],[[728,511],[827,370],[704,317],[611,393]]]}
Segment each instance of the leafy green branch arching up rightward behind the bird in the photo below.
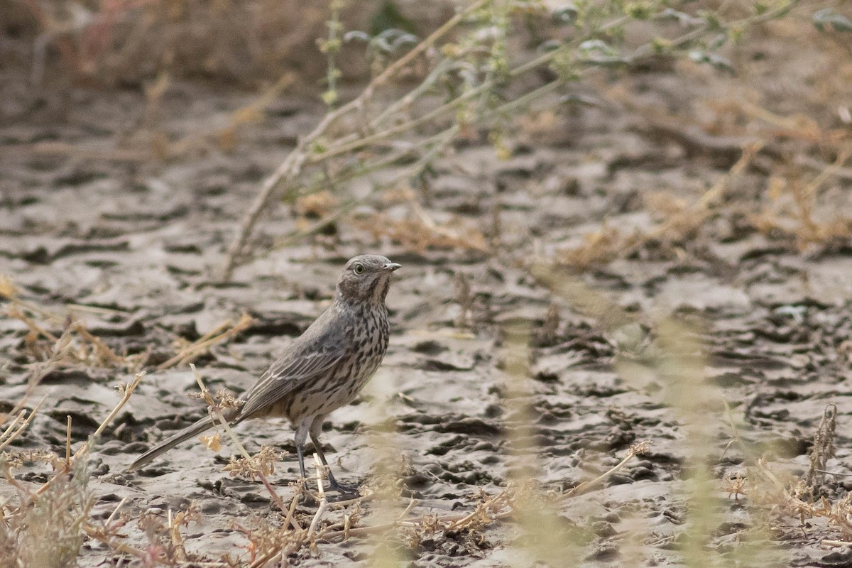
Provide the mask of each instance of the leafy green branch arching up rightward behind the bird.
{"label": "leafy green branch arching up rightward behind the bird", "polygon": [[[220,277],[231,278],[238,263],[250,256],[250,236],[276,197],[292,201],[299,195],[329,187],[339,190],[344,183],[392,169],[406,160],[413,160],[417,166],[401,169],[390,180],[374,186],[391,186],[422,175],[459,136],[469,135],[472,129],[495,128],[533,104],[539,108],[559,106],[566,100],[559,96],[560,90],[592,72],[628,68],[660,56],[688,57],[729,68],[715,50],[730,38],[740,37],[748,27],[786,14],[797,3],[798,0],[780,0],[771,8],[756,3],[750,15],[722,21],[717,13],[684,14],[661,1],[642,3],[642,9],[633,3],[602,6],[578,2],[571,9],[545,14],[538,3],[475,0],[378,73],[360,95],[330,108],[314,129],[299,139],[273,174],[262,182],[227,249]],[[546,15],[567,27],[567,31],[563,39],[544,42],[540,46],[542,53],[532,59],[510,61],[506,41],[512,17],[530,13]],[[635,48],[622,48],[620,38],[625,35],[625,27],[638,20],[675,21],[681,33],[655,37]],[[333,34],[328,41],[336,50],[342,32],[339,21],[332,19],[330,29]],[[353,37],[343,34],[344,40]],[[331,49],[327,51],[331,87],[333,60]],[[398,95],[399,89],[392,83],[410,80],[414,67],[425,68],[422,77],[404,95]],[[550,70],[555,77],[527,87],[531,83],[528,76],[543,70]],[[400,142],[406,136],[410,140]],[[371,197],[372,194],[367,199]],[[334,218],[358,204],[353,199],[342,201]],[[312,227],[292,232],[284,242],[291,243],[314,230]]]}

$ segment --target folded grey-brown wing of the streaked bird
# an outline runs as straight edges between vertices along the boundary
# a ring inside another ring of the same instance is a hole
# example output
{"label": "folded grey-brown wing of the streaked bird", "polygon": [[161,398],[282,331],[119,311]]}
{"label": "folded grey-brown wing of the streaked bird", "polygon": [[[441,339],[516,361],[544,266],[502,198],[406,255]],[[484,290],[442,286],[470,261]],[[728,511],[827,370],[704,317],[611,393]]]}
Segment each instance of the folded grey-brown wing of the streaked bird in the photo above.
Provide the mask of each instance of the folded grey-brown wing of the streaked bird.
{"label": "folded grey-brown wing of the streaked bird", "polygon": [[299,340],[313,341],[296,340],[296,345],[275,361],[245,394],[240,420],[265,409],[293,389],[331,372],[344,359],[347,349],[342,336],[323,333],[312,337],[308,331]]}

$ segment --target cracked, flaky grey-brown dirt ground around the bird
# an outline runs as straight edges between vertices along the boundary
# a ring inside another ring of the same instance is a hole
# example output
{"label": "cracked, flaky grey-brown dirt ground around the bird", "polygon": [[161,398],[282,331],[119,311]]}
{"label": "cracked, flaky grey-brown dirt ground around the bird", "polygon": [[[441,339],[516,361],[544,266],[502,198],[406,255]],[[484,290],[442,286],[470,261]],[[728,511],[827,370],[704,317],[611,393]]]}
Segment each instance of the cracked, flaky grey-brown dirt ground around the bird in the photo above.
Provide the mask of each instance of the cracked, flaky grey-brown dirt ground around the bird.
{"label": "cracked, flaky grey-brown dirt ground around the bird", "polygon": [[[210,560],[249,558],[240,527],[281,521],[258,481],[223,470],[236,454],[230,442],[218,456],[187,442],[141,472],[123,472],[205,412],[187,397],[198,387],[186,364],[157,366],[176,353],[176,341],[196,341],[248,313],[254,321],[247,329],[195,363],[211,390],[249,387],[329,304],[348,257],[363,252],[403,267],[388,298],[392,336],[384,364],[324,433],[342,481],[370,487],[390,464],[403,494],[418,500],[412,513],[468,512],[481,491],[498,493],[524,475],[556,491],[593,479],[630,445],[649,440],[648,452],[604,486],[559,506],[568,524],[592,531],[570,564],[680,565],[678,542],[694,502],[688,464],[697,442],[688,422],[696,417],[684,416],[666,394],[678,385],[660,376],[649,354],[659,349],[656,326],[676,318],[704,346],[694,393],[708,397],[697,408],[707,444],[699,450],[714,476],[711,550],[720,558],[733,550],[755,510],[726,491],[724,479],[746,474],[746,456],[728,447],[733,433],[722,396],[739,435],[766,453],[782,479],[808,470],[823,411],[836,404],[837,453],[821,491],[831,501],[848,495],[852,241],[841,228],[852,215],[852,174],[841,167],[826,175],[807,217],[805,202],[781,182],[795,177],[806,186],[834,161],[823,141],[791,132],[849,135],[838,108],[852,105],[843,89],[852,63],[809,26],[784,22],[763,26],[730,55],[737,77],[678,62],[579,86],[599,104],[517,118],[506,160],[484,139],[455,146],[435,164],[418,201],[440,226],[481,234],[486,250],[423,249],[370,230],[379,218],[373,215],[411,215],[404,200],[365,205],[337,221],[334,234],[275,248],[299,222],[276,205],[262,221],[256,258],[227,284],[211,271],[262,178],[321,117],[319,103],[285,95],[261,123],[239,129],[233,146],[200,136],[193,152],[158,160],[150,157],[153,130],[170,141],[215,132],[254,95],[174,83],[154,128],[135,90],[45,92],[33,102],[32,92],[6,81],[0,273],[21,301],[60,318],[70,311],[115,353],[147,353],[137,358],[147,375],[92,454],[95,519],[107,518],[125,497],[122,510],[134,519],[145,511],[164,518],[195,502],[200,517],[183,530],[187,551]],[[765,146],[732,173],[741,148],[758,140]],[[690,208],[716,184],[721,197],[690,225]],[[807,221],[824,231],[806,234]],[[556,295],[528,270],[539,259],[561,259],[561,274],[633,322],[611,324]],[[33,317],[55,336],[66,324]],[[523,397],[532,425],[510,451],[507,438],[522,418],[506,404],[506,329],[517,324],[533,336]],[[49,344],[27,341],[26,332],[20,318],[0,318],[0,410],[23,395],[34,352]],[[66,416],[77,447],[118,402],[114,385],[132,377],[122,364],[52,370],[33,400],[47,398],[13,448],[64,455]],[[295,454],[284,422],[245,423],[236,432],[250,452],[273,445]],[[37,486],[46,471],[29,464],[16,479]],[[284,502],[297,475],[288,455],[270,477]],[[13,495],[11,485],[0,485],[4,500]],[[394,503],[397,513],[406,504]],[[300,506],[296,518],[309,523],[314,510]],[[821,545],[849,540],[826,519],[802,523],[779,508],[762,510],[763,538],[780,550],[779,564],[852,563],[849,547]],[[359,525],[379,513],[388,514],[363,503]],[[331,512],[327,522],[342,515]],[[135,522],[122,532],[124,542],[146,547]],[[396,554],[414,566],[533,565],[522,533],[508,519],[435,534]],[[375,547],[365,538],[320,542],[290,561],[366,565]],[[78,563],[126,565],[121,557],[92,540]]]}

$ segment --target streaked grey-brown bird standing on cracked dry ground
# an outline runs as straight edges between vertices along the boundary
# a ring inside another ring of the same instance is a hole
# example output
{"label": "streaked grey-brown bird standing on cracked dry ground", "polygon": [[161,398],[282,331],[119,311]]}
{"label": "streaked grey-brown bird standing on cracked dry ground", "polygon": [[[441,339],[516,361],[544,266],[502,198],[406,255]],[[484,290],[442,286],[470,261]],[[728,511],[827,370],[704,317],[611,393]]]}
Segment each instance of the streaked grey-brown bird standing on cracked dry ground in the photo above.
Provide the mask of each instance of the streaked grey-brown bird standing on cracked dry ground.
{"label": "streaked grey-brown bird standing on cracked dry ground", "polygon": [[[350,259],[337,278],[334,301],[279,359],[239,396],[238,408],[222,410],[230,425],[262,417],[285,417],[295,430],[299,471],[306,479],[304,446],[310,436],[325,466],[330,489],[358,491],[337,482],[320,445],[325,417],[351,403],[382,363],[388,350],[389,324],[385,297],[390,277],[400,265],[381,255]],[[209,414],[139,456],[132,472],[181,442],[213,427]]]}

